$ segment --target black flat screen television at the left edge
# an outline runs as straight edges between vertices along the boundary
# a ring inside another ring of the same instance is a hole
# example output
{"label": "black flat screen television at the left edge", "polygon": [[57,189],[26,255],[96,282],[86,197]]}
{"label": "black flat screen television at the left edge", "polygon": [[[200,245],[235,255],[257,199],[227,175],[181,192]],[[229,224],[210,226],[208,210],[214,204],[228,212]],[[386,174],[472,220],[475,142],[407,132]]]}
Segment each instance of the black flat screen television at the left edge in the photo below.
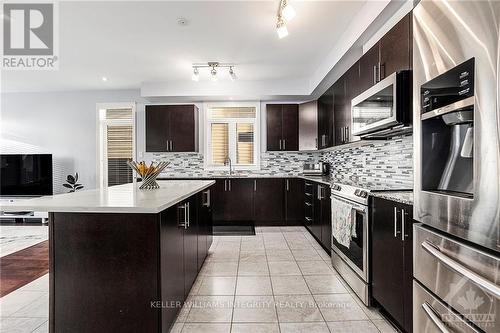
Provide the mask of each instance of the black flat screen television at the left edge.
{"label": "black flat screen television at the left edge", "polygon": [[52,195],[51,154],[1,154],[0,196]]}

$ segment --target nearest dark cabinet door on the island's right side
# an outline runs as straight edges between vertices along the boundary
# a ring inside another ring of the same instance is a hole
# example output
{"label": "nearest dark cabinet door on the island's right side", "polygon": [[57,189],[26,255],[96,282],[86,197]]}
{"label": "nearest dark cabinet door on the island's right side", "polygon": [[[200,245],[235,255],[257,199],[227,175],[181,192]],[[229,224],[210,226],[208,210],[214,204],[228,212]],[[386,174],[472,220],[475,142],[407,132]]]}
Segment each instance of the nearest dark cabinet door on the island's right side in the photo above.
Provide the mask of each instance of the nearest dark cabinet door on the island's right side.
{"label": "nearest dark cabinet door on the island's right side", "polygon": [[[184,228],[179,226],[177,206],[160,214],[161,299],[184,301]],[[177,317],[177,307],[163,307],[162,326],[169,327]]]}

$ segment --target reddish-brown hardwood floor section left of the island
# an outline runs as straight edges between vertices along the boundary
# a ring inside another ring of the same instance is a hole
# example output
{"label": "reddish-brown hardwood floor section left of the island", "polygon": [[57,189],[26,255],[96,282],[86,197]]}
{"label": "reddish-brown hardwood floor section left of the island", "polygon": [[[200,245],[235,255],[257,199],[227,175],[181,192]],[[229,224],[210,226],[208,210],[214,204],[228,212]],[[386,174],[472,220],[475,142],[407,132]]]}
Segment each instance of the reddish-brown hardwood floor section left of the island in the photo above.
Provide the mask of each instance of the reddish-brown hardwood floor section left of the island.
{"label": "reddish-brown hardwood floor section left of the island", "polygon": [[49,241],[0,258],[0,297],[49,272]]}

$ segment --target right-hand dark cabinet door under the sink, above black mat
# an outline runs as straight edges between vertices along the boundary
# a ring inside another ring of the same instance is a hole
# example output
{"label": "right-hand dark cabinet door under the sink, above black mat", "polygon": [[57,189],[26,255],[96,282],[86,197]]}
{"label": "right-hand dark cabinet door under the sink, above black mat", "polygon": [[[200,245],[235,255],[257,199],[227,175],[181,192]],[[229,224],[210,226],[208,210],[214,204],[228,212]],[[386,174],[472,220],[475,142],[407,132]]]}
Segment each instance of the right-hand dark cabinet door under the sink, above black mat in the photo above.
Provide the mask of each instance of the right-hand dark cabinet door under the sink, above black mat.
{"label": "right-hand dark cabinet door under the sink, above black mat", "polygon": [[228,179],[226,201],[229,206],[229,221],[252,221],[254,219],[253,186],[252,179]]}

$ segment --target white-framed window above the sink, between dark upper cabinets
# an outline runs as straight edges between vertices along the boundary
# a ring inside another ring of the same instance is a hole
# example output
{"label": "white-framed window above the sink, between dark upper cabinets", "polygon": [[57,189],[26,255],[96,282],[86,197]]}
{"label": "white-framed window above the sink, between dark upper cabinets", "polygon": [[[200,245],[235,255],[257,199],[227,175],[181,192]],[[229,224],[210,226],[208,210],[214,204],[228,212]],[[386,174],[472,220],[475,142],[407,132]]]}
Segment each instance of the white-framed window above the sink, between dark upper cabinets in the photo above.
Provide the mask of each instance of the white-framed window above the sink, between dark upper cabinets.
{"label": "white-framed window above the sink, between dark upper cabinets", "polygon": [[235,169],[258,169],[258,103],[206,104],[205,166],[226,169],[228,158]]}

